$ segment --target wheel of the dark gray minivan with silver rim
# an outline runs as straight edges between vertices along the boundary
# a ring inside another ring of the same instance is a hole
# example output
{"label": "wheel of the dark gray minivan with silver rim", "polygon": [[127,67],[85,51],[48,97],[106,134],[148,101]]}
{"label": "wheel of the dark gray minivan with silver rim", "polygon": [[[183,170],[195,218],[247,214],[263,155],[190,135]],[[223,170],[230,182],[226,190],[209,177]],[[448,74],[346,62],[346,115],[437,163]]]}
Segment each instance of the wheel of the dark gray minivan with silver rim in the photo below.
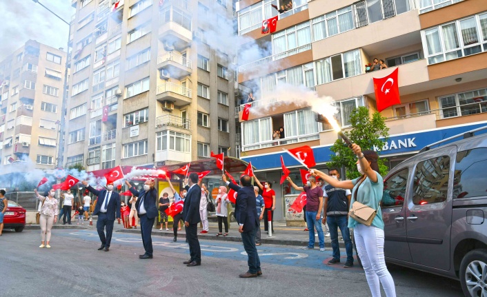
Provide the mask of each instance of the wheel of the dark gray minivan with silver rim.
{"label": "wheel of the dark gray minivan with silver rim", "polygon": [[461,260],[460,283],[465,296],[487,295],[487,249],[474,249]]}

